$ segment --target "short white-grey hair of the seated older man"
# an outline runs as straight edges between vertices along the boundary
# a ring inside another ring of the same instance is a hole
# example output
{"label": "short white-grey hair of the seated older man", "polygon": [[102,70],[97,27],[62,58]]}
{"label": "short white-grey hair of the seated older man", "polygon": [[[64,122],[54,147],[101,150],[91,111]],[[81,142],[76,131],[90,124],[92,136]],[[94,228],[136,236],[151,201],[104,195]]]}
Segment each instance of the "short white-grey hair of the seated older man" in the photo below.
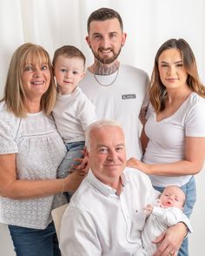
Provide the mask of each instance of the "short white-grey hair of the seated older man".
{"label": "short white-grey hair of the seated older man", "polygon": [[90,133],[96,128],[102,128],[105,126],[114,126],[122,129],[122,126],[116,121],[112,119],[101,119],[92,123],[85,129],[85,146],[87,147],[88,152],[90,151]]}

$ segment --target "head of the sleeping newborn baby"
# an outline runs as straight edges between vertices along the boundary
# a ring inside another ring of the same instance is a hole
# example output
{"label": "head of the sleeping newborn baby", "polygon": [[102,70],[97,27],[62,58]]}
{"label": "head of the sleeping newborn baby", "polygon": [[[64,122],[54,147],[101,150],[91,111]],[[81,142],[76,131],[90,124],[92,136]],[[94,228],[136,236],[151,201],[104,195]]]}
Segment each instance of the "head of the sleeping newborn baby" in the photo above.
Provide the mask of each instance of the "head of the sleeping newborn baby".
{"label": "head of the sleeping newborn baby", "polygon": [[165,208],[177,207],[182,209],[185,203],[185,199],[186,197],[184,192],[177,185],[169,185],[165,187],[160,196],[162,206]]}

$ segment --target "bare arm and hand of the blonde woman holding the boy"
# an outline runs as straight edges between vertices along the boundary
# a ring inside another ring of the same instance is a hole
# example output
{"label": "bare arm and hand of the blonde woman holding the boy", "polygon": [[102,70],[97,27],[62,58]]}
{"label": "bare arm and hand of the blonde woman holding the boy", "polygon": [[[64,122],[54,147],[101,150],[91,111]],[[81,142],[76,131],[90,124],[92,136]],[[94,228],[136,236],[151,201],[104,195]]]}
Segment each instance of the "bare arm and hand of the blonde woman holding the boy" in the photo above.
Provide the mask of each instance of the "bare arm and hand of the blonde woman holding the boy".
{"label": "bare arm and hand of the blonde woman holding the boy", "polygon": [[77,172],[64,179],[17,179],[16,154],[0,155],[0,195],[10,199],[35,199],[75,191],[83,180]]}

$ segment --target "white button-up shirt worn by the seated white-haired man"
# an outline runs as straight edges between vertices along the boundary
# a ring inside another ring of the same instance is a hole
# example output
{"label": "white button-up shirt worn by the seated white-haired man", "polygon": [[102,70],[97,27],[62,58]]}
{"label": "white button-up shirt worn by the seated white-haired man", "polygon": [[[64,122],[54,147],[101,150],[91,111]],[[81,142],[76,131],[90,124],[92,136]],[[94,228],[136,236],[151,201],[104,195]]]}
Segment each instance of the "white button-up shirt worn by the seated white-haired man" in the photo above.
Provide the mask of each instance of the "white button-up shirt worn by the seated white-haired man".
{"label": "white button-up shirt worn by the seated white-haired man", "polygon": [[89,171],[63,214],[63,255],[146,255],[141,239],[146,219],[143,207],[153,204],[159,192],[147,175],[131,168],[125,168],[122,185],[118,196]]}

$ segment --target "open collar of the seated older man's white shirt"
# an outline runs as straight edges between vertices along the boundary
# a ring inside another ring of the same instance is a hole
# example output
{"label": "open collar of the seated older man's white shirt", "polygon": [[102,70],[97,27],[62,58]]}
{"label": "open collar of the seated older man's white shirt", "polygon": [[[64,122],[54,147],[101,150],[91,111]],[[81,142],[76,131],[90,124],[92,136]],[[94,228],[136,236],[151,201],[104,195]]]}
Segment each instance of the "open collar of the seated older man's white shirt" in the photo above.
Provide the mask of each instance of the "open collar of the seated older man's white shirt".
{"label": "open collar of the seated older man's white shirt", "polygon": [[[89,183],[95,186],[96,189],[102,192],[105,196],[109,197],[110,195],[114,195],[114,194],[116,195],[116,189],[102,183],[102,181],[97,179],[90,169],[89,169],[88,179],[89,179]],[[122,173],[121,175],[121,182],[122,182],[122,187],[125,187],[128,184],[124,173]]]}

